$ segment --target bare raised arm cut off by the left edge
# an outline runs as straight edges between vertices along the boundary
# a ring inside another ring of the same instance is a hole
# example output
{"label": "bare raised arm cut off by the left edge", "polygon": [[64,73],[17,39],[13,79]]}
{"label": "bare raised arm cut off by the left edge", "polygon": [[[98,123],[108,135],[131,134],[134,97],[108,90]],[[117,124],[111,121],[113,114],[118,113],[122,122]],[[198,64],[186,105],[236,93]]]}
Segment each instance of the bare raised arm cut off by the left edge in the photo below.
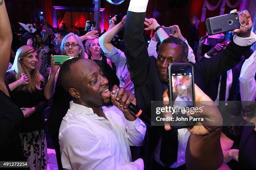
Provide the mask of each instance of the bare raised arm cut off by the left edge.
{"label": "bare raised arm cut off by the left edge", "polygon": [[13,35],[5,7],[5,1],[0,0],[0,90],[8,95],[4,85],[5,72],[8,68]]}

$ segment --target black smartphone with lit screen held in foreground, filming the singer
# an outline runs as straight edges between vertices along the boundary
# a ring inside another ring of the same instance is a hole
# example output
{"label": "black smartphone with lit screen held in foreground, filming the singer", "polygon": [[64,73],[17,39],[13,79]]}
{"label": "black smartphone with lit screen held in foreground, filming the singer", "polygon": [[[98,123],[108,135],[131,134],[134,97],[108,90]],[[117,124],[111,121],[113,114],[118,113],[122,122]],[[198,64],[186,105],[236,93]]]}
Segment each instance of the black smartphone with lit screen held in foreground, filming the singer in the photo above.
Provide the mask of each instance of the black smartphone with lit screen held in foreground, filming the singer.
{"label": "black smartphone with lit screen held in foreground, filming the singer", "polygon": [[195,125],[189,121],[187,110],[195,106],[194,70],[190,63],[172,63],[168,67],[168,84],[171,107],[177,108],[173,113],[173,128],[187,128]]}

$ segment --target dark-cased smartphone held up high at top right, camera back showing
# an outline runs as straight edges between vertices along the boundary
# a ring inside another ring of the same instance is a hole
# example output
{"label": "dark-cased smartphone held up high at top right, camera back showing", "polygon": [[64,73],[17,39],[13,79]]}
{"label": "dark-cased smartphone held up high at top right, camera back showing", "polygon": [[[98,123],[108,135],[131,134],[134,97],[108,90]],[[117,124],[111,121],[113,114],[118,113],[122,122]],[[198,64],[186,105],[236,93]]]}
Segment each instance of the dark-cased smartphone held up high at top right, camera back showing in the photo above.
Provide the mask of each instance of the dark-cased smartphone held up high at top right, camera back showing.
{"label": "dark-cased smartphone held up high at top right, camera back showing", "polygon": [[240,28],[238,13],[207,18],[205,25],[208,35],[215,35]]}

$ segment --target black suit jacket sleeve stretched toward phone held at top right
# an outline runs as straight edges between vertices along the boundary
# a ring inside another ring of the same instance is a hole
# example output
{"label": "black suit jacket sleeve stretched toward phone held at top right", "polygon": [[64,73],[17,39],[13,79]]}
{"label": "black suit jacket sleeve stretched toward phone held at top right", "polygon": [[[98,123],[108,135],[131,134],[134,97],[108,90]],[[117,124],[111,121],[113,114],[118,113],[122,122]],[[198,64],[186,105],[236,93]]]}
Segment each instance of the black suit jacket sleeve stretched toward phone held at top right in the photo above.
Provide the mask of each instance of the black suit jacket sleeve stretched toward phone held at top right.
{"label": "black suit jacket sleeve stretched toward phone held at top right", "polygon": [[235,67],[241,61],[243,53],[250,46],[242,47],[231,41],[226,49],[208,60],[197,62],[196,66],[202,72],[204,83],[207,85],[210,80],[215,80],[224,72]]}

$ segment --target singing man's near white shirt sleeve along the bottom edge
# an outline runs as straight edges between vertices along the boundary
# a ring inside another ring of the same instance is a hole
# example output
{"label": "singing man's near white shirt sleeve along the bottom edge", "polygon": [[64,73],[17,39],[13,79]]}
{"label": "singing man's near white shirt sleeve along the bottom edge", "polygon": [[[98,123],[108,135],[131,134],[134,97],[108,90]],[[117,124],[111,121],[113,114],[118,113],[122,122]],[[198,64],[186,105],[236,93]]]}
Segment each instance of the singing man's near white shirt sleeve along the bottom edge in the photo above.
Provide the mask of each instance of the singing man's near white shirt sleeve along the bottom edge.
{"label": "singing man's near white shirt sleeve along the bottom edge", "polygon": [[[61,163],[63,168],[72,170],[143,170],[143,160],[119,165],[113,151],[89,130],[70,127],[63,133]],[[79,136],[79,138],[77,138]],[[68,158],[68,160],[67,160]],[[71,167],[66,166],[65,163]]]}

